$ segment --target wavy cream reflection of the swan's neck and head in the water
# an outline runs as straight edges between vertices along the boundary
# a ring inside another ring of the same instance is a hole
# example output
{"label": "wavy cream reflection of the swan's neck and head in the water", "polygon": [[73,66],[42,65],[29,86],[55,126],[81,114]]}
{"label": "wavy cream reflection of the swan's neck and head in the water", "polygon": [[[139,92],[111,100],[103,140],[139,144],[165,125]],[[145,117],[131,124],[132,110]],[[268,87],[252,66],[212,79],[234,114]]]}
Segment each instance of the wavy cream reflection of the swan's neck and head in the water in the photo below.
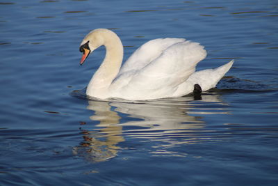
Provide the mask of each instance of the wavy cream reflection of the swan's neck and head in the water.
{"label": "wavy cream reflection of the swan's neck and head in the water", "polygon": [[[109,102],[89,101],[88,109],[95,111],[92,121],[99,121],[98,129],[82,130],[83,142],[74,148],[75,155],[82,155],[90,162],[102,162],[117,155],[116,146],[121,141],[122,126],[118,126],[120,116],[111,110]],[[84,124],[84,123],[83,123]]]}

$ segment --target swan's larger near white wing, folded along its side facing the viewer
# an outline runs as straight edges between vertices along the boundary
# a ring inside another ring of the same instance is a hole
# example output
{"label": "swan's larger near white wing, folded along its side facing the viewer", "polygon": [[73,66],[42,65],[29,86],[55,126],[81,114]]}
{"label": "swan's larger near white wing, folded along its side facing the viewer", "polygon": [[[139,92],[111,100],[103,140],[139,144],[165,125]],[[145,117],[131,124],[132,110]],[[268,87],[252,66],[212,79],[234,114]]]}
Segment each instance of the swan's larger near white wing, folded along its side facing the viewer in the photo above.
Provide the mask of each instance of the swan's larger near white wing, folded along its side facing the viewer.
{"label": "swan's larger near white wing, folded along its side facing the viewer", "polygon": [[129,82],[121,88],[122,93],[128,95],[129,99],[172,96],[179,84],[195,72],[195,66],[205,57],[206,51],[199,43],[177,42],[167,47],[145,67],[133,70],[132,77],[129,75]]}

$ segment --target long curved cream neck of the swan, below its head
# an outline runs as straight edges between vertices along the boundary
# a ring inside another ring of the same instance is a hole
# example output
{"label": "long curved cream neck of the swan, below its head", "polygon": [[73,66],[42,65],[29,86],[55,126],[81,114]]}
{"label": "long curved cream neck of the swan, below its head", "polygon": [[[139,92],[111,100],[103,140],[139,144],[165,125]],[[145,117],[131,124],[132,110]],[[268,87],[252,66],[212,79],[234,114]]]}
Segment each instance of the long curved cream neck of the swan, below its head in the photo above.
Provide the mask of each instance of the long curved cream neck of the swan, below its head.
{"label": "long curved cream neck of the swan, below its head", "polygon": [[115,33],[104,34],[106,56],[87,87],[87,94],[97,98],[106,98],[108,88],[117,76],[124,55],[122,42]]}

